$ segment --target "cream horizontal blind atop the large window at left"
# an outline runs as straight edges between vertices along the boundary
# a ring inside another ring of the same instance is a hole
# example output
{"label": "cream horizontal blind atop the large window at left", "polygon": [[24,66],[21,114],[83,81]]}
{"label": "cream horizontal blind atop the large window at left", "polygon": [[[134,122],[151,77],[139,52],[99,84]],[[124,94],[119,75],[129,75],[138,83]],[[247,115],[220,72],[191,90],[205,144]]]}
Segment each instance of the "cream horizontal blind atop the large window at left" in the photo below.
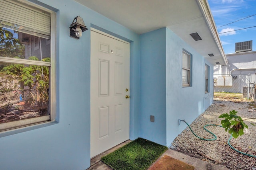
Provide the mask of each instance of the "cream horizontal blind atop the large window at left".
{"label": "cream horizontal blind atop the large window at left", "polygon": [[48,12],[22,4],[16,0],[0,0],[0,26],[50,39]]}

